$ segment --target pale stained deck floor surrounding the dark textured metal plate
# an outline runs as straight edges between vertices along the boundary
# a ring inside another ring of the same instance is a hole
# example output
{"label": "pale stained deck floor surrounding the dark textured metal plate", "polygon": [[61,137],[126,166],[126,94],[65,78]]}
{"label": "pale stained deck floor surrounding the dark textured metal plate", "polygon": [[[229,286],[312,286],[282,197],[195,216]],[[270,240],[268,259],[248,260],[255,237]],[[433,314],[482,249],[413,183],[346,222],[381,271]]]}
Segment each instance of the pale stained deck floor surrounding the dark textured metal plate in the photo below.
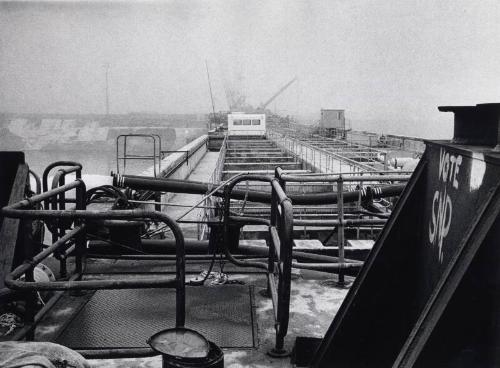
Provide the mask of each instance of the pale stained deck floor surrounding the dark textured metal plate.
{"label": "pale stained deck floor surrounding the dark textured metal plate", "polygon": [[[249,242],[249,241],[247,241]],[[173,272],[171,261],[144,262],[138,266],[137,261],[89,260],[87,267],[88,279],[103,277],[148,277],[158,274],[159,270]],[[127,264],[127,262],[131,262]],[[189,261],[187,264],[186,280],[199,277],[199,272],[208,269],[208,262]],[[216,262],[214,271],[219,270]],[[126,272],[137,272],[135,276],[126,275]],[[238,280],[244,285],[254,288],[255,318],[257,325],[256,348],[224,348],[225,367],[290,367],[290,358],[271,358],[267,352],[274,345],[274,317],[270,298],[263,296],[267,278],[257,269],[242,269],[225,264],[224,272],[229,280]],[[107,276],[104,276],[107,274]],[[347,277],[347,281],[352,281]],[[232,285],[216,286],[228,288]],[[330,326],[348,290],[336,287],[336,275],[305,271],[294,271],[292,275],[290,321],[288,335],[285,339],[285,348],[293,348],[297,336],[322,337]],[[37,341],[55,341],[61,331],[71,322],[80,308],[87,302],[89,295],[75,296],[65,294],[49,314],[37,327]],[[174,303],[174,299],[172,299]],[[172,326],[173,327],[173,326]],[[132,367],[161,367],[161,357],[133,358],[133,359],[94,359],[89,360],[92,367],[132,368]]]}

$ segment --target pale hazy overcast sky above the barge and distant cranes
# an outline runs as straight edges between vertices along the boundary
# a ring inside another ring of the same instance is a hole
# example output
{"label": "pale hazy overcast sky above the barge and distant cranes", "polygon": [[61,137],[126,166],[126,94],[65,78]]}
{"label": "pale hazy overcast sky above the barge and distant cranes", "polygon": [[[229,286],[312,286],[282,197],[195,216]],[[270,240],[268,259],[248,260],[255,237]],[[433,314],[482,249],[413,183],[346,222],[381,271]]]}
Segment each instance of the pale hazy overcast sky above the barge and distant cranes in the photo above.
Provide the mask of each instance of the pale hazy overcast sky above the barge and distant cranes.
{"label": "pale hazy overcast sky above the barge and distant cranes", "polygon": [[225,90],[355,128],[451,132],[439,105],[500,102],[500,1],[1,2],[0,111],[208,113]]}

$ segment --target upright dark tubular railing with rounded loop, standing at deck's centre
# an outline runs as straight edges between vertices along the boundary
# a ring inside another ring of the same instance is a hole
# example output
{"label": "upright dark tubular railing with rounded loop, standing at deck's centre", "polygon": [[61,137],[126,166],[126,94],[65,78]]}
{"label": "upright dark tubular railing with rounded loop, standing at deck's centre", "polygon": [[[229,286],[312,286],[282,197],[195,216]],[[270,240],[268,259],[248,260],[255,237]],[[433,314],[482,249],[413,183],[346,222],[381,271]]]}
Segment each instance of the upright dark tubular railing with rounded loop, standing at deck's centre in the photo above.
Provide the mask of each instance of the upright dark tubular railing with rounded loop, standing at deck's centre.
{"label": "upright dark tubular railing with rounded loop, standing at deck's centre", "polygon": [[[236,184],[246,181],[268,182],[271,185],[271,216],[269,220],[235,216],[231,213],[231,192]],[[268,262],[242,261],[236,259],[229,251],[231,225],[267,225],[269,228]],[[280,184],[278,171],[276,177],[267,175],[241,174],[226,183],[224,188],[224,251],[226,258],[241,267],[256,267],[267,271],[268,292],[274,310],[276,341],[269,352],[272,356],[287,354],[284,339],[288,331],[290,313],[290,288],[293,247],[293,209],[292,202],[286,196]]]}

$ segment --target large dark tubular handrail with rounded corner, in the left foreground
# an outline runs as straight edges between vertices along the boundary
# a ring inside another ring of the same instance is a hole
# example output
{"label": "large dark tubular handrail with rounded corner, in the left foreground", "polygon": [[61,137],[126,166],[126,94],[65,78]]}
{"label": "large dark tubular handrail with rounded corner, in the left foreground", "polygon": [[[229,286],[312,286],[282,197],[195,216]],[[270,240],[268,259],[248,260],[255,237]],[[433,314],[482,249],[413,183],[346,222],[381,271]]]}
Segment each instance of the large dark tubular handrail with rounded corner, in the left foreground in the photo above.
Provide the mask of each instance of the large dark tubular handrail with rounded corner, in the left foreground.
{"label": "large dark tubular handrail with rounded corner, in the left foreground", "polygon": [[[50,200],[69,190],[76,189],[76,209],[72,210],[39,210],[33,209],[36,204]],[[185,249],[184,236],[179,225],[162,212],[143,209],[134,210],[109,210],[89,211],[85,209],[85,183],[81,179],[56,187],[52,190],[34,195],[14,204],[5,206],[0,210],[4,217],[25,220],[24,226],[29,229],[30,220],[65,219],[74,222],[74,227],[68,233],[56,240],[48,248],[34,254],[33,244],[29,238],[24,240],[24,262],[16,267],[5,277],[7,287],[23,290],[26,295],[26,326],[21,329],[18,338],[27,335],[28,339],[34,338],[36,323],[40,320],[40,312],[36,314],[36,291],[39,290],[87,290],[87,289],[129,289],[129,288],[163,288],[176,289],[176,326],[182,327],[185,323]],[[162,221],[169,227],[175,238],[176,249],[176,275],[175,277],[155,277],[146,279],[114,279],[114,280],[82,280],[83,260],[86,256],[86,225],[87,223],[105,223],[108,220],[144,220],[152,219]],[[34,268],[49,255],[66,246],[69,241],[75,243],[75,273],[67,281],[35,282]],[[19,278],[25,275],[24,280]],[[61,295],[57,294],[58,297]],[[48,308],[44,308],[45,311]]]}

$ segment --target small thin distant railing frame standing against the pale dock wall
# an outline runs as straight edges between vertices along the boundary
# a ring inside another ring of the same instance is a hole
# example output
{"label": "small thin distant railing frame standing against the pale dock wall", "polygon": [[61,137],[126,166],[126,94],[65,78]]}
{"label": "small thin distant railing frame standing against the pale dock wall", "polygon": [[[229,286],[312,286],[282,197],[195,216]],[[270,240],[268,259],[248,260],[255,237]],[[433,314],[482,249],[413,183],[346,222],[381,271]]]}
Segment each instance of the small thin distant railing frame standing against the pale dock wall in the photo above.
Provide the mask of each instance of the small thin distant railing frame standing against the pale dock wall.
{"label": "small thin distant railing frame standing against the pale dock wall", "polygon": [[[153,146],[153,152],[150,155],[140,155],[140,154],[129,154],[127,151],[127,141],[129,138],[143,138],[144,140],[150,140]],[[120,156],[120,143],[123,141],[122,155]],[[166,151],[163,151],[166,152]],[[142,160],[142,161],[153,161],[153,173],[154,177],[161,173],[161,160],[162,160],[162,150],[161,150],[161,137],[158,134],[120,134],[116,137],[116,172],[120,173],[120,162],[123,161],[123,173],[127,169],[127,160]]]}

